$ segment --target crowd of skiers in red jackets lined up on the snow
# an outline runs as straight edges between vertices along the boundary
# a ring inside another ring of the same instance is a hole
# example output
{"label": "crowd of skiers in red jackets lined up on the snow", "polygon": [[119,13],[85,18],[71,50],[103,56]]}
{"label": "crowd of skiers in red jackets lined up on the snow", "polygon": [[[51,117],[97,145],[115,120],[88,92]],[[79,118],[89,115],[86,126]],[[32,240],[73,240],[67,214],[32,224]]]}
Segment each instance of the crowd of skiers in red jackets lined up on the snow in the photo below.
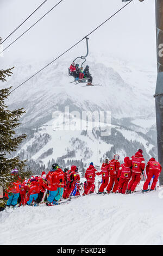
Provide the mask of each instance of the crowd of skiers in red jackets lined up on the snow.
{"label": "crowd of skiers in red jackets lined up on the snow", "polygon": [[[80,181],[77,166],[62,170],[57,163],[51,170],[40,176],[32,176],[23,182],[18,176],[18,169],[13,169],[11,175],[16,175],[17,180],[8,187],[5,197],[8,198],[6,208],[15,208],[16,205],[34,205],[45,203],[47,206],[60,204],[61,200],[73,196],[85,196],[95,192],[95,177],[102,176],[98,194],[102,193],[133,193],[140,183],[142,176],[146,178],[143,192],[148,191],[148,185],[153,178],[150,190],[154,190],[161,173],[161,165],[152,157],[145,169],[145,159],[139,149],[131,158],[124,157],[120,164],[120,156],[114,155],[112,160],[105,159],[101,169],[95,168],[93,162],[85,171],[84,184]],[[105,191],[106,190],[106,191]]]}

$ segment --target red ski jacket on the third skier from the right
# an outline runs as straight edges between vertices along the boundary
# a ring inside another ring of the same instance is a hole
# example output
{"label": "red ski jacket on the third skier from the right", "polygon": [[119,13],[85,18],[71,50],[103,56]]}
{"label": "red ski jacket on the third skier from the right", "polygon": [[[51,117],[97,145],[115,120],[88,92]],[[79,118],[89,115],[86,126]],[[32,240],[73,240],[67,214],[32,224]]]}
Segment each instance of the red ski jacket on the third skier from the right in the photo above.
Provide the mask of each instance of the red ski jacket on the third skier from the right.
{"label": "red ski jacket on the third skier from the right", "polygon": [[129,157],[128,156],[124,157],[124,163],[121,164],[118,170],[117,178],[129,180],[131,178],[131,166],[132,166],[132,162],[129,159]]}

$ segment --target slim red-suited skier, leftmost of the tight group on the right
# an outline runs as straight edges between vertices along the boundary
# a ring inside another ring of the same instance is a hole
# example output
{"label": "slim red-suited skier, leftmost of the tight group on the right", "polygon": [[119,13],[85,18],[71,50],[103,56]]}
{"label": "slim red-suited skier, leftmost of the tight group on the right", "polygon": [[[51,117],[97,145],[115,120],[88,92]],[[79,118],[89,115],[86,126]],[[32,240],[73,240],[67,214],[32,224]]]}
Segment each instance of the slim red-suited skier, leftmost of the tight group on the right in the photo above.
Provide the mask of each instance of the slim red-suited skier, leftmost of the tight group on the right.
{"label": "slim red-suited skier, leftmost of the tight group on the right", "polygon": [[102,175],[102,184],[99,187],[98,194],[104,193],[104,189],[108,186],[109,182],[109,160],[105,159],[105,162],[102,164],[101,172],[96,173],[97,175]]}

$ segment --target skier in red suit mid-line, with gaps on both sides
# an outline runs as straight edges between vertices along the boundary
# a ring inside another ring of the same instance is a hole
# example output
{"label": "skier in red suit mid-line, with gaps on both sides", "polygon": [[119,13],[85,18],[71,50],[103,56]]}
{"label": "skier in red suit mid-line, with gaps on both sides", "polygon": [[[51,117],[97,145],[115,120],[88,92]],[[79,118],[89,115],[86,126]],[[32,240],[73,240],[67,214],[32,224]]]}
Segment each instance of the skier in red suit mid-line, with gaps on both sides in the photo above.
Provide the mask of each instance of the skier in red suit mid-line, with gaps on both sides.
{"label": "skier in red suit mid-line, with gaps on both sides", "polygon": [[95,167],[93,166],[93,163],[90,163],[89,168],[86,169],[85,171],[85,178],[86,178],[86,188],[84,190],[83,196],[85,196],[85,194],[89,194],[90,191],[92,191],[93,187],[94,187],[94,183],[95,183],[95,176],[97,174],[97,170],[95,169]]}

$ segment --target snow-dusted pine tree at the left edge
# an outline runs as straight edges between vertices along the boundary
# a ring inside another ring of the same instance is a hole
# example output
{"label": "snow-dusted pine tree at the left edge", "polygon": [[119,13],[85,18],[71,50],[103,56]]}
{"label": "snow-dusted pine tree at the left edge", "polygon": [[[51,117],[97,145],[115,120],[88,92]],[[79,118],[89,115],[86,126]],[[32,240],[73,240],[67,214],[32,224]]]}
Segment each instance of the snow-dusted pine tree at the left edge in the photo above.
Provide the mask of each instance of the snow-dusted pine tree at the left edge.
{"label": "snow-dusted pine tree at the left edge", "polygon": [[[6,81],[6,77],[11,76],[13,68],[0,70],[0,81]],[[11,88],[0,90],[0,186],[3,187],[4,192],[7,190],[10,182],[17,179],[15,175],[10,174],[12,169],[18,169],[18,176],[22,180],[31,175],[29,170],[23,170],[26,160],[21,161],[18,156],[14,158],[7,157],[7,155],[16,151],[18,145],[26,138],[26,134],[16,136],[15,131],[20,125],[19,119],[25,111],[23,111],[23,108],[10,111],[4,103],[10,95]],[[0,200],[0,207],[4,206],[4,202],[4,199]]]}

